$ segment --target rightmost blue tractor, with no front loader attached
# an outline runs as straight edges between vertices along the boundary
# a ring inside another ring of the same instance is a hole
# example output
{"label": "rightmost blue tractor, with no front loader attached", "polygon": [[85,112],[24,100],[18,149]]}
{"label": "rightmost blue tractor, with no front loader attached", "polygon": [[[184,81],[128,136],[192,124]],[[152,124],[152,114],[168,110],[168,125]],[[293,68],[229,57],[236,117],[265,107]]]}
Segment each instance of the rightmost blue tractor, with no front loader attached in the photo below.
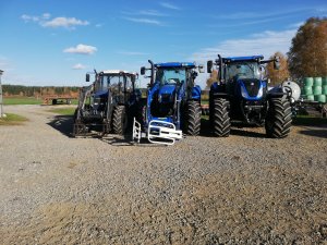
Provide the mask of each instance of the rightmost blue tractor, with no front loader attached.
{"label": "rightmost blue tractor, with no front loader attached", "polygon": [[279,69],[279,58],[263,60],[263,56],[221,58],[208,61],[218,68],[218,82],[209,93],[209,120],[214,134],[230,134],[231,121],[247,125],[265,125],[266,134],[283,138],[290,133],[292,111],[291,95],[282,86],[268,89],[265,64],[274,62]]}

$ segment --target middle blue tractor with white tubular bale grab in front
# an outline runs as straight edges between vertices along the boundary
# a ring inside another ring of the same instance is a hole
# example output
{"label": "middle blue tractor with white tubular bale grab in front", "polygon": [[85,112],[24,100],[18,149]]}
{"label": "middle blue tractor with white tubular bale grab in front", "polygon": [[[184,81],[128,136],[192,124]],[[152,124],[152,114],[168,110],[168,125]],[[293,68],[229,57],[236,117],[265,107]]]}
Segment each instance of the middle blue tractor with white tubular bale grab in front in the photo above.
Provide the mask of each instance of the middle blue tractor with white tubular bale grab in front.
{"label": "middle blue tractor with white tubular bale grab in front", "polygon": [[193,62],[154,63],[141,68],[144,75],[150,71],[147,97],[138,105],[134,119],[133,139],[146,137],[150,143],[174,144],[182,133],[198,135],[201,128],[201,88],[194,84],[196,70]]}

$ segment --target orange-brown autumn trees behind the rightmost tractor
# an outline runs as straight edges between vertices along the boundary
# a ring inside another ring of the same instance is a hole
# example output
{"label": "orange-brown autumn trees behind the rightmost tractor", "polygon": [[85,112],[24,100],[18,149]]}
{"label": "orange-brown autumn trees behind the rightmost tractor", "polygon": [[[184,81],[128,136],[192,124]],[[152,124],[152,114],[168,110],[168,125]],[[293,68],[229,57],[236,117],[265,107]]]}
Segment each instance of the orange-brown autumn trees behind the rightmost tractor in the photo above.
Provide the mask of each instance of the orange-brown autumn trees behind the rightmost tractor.
{"label": "orange-brown autumn trees behind the rightmost tractor", "polygon": [[[272,63],[267,64],[271,86],[289,78],[327,76],[327,17],[308,19],[292,38],[288,53],[276,51],[269,59],[274,57],[279,57],[280,69],[274,70]],[[206,81],[207,88],[217,79],[218,73],[213,72]]]}

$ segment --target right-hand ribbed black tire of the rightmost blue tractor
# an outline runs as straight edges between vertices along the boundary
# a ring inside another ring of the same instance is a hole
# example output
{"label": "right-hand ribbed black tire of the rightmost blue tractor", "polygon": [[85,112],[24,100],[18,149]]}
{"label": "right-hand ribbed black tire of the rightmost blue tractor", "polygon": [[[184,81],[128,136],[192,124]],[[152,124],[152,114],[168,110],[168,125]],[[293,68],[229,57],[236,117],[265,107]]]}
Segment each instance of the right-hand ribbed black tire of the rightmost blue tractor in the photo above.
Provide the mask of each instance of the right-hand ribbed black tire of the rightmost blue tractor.
{"label": "right-hand ribbed black tire of the rightmost blue tractor", "polygon": [[284,138],[289,135],[292,124],[291,105],[287,99],[269,100],[266,118],[266,134],[271,138]]}

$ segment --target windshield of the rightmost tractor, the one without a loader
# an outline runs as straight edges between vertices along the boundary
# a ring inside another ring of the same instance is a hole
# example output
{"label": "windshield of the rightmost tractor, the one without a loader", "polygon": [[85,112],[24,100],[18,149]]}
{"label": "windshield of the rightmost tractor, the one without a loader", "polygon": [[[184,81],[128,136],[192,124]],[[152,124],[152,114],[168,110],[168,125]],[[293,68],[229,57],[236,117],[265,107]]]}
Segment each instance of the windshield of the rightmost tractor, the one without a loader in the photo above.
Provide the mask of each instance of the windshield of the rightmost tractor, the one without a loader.
{"label": "windshield of the rightmost tractor, the one without a loader", "polygon": [[261,78],[259,66],[256,62],[239,62],[228,64],[226,68],[226,78]]}

